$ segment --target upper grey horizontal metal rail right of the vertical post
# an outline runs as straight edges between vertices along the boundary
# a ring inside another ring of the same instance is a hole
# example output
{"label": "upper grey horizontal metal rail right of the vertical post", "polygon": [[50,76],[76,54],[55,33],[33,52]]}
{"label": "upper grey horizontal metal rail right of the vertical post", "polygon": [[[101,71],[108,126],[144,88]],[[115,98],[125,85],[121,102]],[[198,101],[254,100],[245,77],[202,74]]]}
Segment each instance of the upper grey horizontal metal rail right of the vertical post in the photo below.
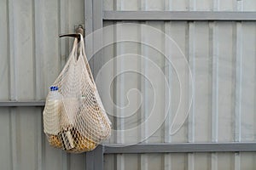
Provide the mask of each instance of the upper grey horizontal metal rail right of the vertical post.
{"label": "upper grey horizontal metal rail right of the vertical post", "polygon": [[103,20],[256,20],[256,12],[104,11]]}

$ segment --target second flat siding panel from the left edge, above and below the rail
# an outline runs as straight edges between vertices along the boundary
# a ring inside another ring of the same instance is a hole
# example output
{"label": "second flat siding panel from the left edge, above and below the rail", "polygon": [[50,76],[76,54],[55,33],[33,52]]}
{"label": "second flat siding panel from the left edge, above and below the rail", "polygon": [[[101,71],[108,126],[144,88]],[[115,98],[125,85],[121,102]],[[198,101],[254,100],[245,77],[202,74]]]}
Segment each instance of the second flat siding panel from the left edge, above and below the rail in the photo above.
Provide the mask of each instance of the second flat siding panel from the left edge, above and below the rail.
{"label": "second flat siding panel from the left edge, above and below the rail", "polygon": [[[11,100],[33,99],[32,2],[9,1],[8,8],[9,80],[5,82],[9,82],[9,98]],[[21,116],[23,112],[24,115]],[[32,112],[34,111],[28,108],[10,110],[11,167],[14,169],[36,168],[37,166],[37,155],[34,150],[36,148],[36,140],[34,140],[36,115],[29,116]],[[29,139],[30,142],[27,142]]]}

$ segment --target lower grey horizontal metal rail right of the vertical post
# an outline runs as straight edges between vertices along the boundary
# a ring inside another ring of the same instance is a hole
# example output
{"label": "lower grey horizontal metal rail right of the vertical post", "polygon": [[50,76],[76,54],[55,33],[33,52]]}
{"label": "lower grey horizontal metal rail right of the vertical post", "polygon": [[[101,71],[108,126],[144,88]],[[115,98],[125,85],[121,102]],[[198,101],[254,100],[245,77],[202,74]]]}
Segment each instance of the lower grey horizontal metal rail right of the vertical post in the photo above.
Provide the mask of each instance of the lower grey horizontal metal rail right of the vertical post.
{"label": "lower grey horizontal metal rail right of the vertical post", "polygon": [[189,153],[256,151],[256,143],[183,143],[135,144],[129,146],[105,145],[105,154]]}

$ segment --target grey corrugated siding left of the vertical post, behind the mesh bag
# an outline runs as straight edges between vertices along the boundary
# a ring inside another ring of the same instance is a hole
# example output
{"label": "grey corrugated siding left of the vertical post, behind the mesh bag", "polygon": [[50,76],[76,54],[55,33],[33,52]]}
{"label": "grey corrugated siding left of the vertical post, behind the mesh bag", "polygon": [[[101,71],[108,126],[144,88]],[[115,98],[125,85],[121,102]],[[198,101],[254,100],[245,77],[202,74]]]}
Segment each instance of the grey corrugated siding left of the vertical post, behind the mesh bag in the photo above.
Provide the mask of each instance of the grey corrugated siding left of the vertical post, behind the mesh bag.
{"label": "grey corrugated siding left of the vertical post, behind the mesh bag", "polygon": [[[0,99],[45,99],[84,23],[84,1],[0,1]],[[85,155],[49,147],[40,107],[0,108],[0,169],[85,169]]]}

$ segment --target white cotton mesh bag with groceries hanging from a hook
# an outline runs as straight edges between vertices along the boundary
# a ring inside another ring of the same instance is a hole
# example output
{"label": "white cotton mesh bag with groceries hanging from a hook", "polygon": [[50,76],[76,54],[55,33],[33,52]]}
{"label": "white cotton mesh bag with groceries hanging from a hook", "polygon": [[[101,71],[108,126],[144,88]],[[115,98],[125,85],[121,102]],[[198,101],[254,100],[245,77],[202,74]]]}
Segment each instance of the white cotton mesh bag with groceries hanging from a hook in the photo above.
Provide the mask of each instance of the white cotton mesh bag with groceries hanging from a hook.
{"label": "white cotton mesh bag with groceries hanging from a hook", "polygon": [[75,38],[67,64],[50,87],[43,117],[49,144],[67,152],[93,150],[110,136],[111,122],[96,89],[81,35],[80,42]]}

